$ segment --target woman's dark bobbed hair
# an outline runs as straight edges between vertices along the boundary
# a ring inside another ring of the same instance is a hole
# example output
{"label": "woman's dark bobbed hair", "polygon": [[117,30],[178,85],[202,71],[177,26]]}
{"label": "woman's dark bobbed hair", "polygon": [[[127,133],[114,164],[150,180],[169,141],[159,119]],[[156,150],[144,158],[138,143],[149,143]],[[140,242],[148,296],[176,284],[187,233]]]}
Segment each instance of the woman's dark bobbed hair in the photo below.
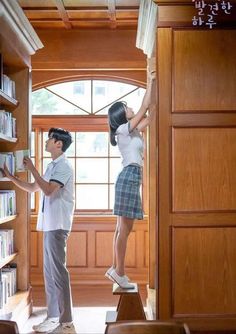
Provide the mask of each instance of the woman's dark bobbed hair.
{"label": "woman's dark bobbed hair", "polygon": [[116,130],[121,124],[127,123],[126,118],[126,102],[115,102],[108,109],[108,121],[110,130],[110,143],[112,146],[116,146]]}

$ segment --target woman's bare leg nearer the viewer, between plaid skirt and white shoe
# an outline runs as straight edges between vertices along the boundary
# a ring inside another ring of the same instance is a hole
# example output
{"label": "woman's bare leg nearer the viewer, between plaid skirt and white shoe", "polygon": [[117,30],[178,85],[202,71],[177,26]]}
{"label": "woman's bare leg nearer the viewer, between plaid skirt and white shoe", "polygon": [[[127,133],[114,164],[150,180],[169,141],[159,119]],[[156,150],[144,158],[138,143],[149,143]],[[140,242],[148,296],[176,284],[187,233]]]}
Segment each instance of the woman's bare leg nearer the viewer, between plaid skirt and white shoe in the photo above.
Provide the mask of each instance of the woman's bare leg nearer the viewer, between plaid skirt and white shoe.
{"label": "woman's bare leg nearer the viewer, between plaid skirt and white shoe", "polygon": [[132,231],[134,219],[119,217],[119,229],[115,243],[116,272],[119,276],[125,274],[125,254],[127,240]]}

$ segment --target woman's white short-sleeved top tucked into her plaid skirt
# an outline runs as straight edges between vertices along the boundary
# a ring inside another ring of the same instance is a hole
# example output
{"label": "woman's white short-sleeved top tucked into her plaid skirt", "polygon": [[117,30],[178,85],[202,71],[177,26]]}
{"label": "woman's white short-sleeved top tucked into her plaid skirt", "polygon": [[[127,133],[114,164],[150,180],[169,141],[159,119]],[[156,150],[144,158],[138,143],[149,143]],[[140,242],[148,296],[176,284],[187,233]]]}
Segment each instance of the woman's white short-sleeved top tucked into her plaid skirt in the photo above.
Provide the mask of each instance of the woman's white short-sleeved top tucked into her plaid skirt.
{"label": "woman's white short-sleeved top tucked into her plaid skirt", "polygon": [[144,142],[137,129],[129,132],[129,122],[122,124],[116,130],[117,144],[122,156],[122,165],[143,165]]}

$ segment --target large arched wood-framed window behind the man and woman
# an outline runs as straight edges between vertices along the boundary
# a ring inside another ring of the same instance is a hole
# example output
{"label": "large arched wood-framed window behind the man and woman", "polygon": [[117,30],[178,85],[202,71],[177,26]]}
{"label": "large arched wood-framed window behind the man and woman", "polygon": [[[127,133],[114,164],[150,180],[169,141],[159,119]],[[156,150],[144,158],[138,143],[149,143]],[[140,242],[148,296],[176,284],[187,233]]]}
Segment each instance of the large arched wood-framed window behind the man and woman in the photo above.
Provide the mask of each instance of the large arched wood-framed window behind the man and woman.
{"label": "large arched wood-framed window behind the man and woman", "polygon": [[[141,87],[108,80],[64,82],[33,92],[32,159],[43,173],[51,160],[44,147],[49,128],[71,131],[73,143],[66,155],[75,171],[77,213],[112,211],[121,159],[117,147],[109,143],[107,111],[120,100],[137,111],[144,93]],[[36,211],[37,202],[33,196]]]}

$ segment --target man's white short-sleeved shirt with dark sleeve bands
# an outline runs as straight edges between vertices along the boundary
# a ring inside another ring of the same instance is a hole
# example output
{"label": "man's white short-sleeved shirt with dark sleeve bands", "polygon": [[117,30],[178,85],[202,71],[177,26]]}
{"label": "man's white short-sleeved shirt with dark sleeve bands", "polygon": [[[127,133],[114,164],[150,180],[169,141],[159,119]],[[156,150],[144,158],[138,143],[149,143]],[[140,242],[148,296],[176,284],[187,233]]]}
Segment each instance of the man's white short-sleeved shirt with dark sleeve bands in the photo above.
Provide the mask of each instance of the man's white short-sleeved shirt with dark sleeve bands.
{"label": "man's white short-sleeved shirt with dark sleeve bands", "polygon": [[65,154],[48,164],[45,181],[57,182],[61,188],[50,196],[41,192],[37,230],[71,230],[74,213],[74,173]]}

